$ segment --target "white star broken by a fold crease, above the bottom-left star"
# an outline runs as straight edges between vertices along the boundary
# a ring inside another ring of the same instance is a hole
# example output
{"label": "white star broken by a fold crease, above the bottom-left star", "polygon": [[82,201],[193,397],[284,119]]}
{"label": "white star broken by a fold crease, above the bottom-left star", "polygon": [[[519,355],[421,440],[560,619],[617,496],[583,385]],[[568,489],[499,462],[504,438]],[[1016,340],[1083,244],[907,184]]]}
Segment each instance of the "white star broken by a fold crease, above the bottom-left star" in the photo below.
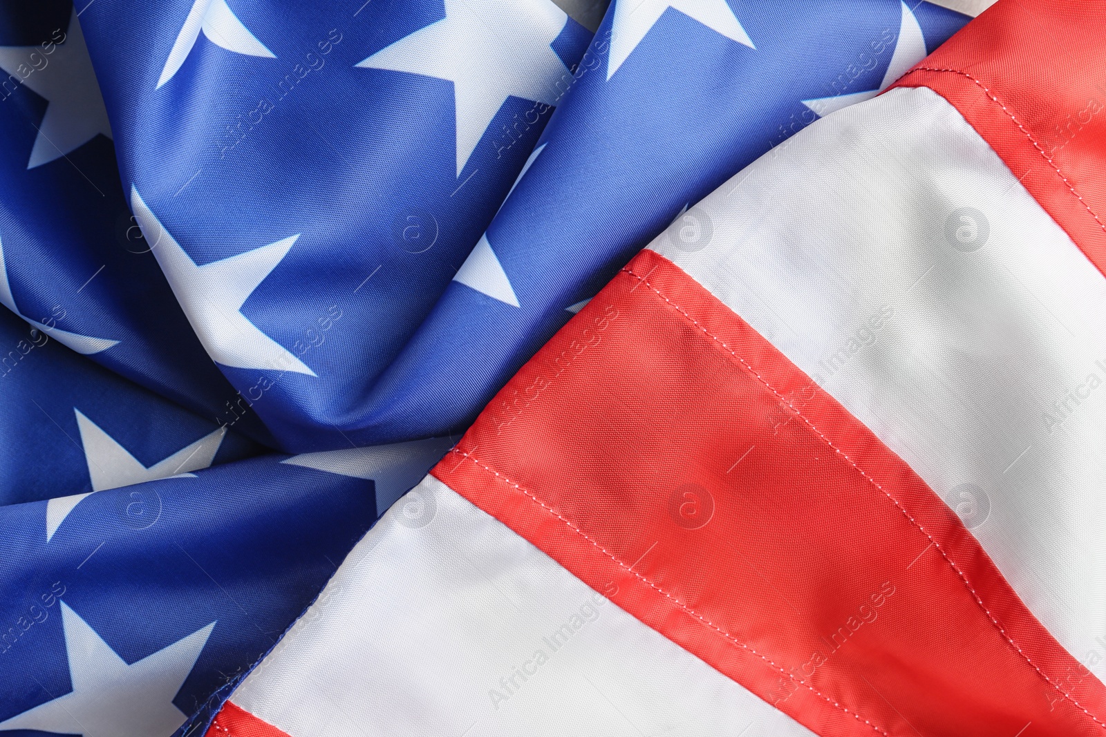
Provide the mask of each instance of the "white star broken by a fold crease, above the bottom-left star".
{"label": "white star broken by a fold crease, above the bottom-left star", "polygon": [[181,448],[173,455],[146,467],[131,454],[127,449],[104,432],[100,425],[86,418],[81,410],[73,408],[76,414],[76,427],[81,431],[81,445],[84,449],[84,462],[88,465],[88,478],[92,481],[92,492],[55,497],[46,502],[46,541],[54,536],[69,513],[73,510],[88,494],[104,492],[108,488],[140,484],[169,476],[192,476],[192,471],[207,468],[219,452],[226,428],[219,428],[204,435],[195,443]]}

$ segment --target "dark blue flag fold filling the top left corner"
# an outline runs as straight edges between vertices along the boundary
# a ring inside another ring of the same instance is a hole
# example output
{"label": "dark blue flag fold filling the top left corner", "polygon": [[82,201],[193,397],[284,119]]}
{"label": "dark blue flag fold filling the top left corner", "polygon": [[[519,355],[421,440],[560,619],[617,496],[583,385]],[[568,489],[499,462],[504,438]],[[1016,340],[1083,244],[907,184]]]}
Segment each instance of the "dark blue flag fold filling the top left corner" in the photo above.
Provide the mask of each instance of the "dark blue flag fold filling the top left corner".
{"label": "dark blue flag fold filling the top left corner", "polygon": [[[236,399],[174,298],[121,186],[77,13],[0,13],[0,304],[211,421]],[[8,354],[10,356],[10,354]],[[251,413],[236,430],[265,442]]]}

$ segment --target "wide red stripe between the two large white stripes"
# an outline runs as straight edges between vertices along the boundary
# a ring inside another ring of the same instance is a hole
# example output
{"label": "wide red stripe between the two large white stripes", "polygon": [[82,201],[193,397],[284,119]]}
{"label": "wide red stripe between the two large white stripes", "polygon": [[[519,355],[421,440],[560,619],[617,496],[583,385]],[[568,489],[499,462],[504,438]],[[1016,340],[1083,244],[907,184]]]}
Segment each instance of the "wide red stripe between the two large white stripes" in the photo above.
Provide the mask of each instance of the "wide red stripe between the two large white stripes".
{"label": "wide red stripe between the two large white stripes", "polygon": [[432,473],[826,737],[1104,731],[1102,684],[939,497],[651,251]]}

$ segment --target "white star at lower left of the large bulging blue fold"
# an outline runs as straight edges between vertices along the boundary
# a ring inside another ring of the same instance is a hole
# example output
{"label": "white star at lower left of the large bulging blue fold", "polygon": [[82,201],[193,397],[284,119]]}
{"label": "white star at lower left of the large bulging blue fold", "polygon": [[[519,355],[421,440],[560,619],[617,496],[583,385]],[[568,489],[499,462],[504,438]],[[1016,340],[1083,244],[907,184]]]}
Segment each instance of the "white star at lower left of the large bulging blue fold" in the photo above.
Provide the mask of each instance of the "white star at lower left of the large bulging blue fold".
{"label": "white star at lower left of the large bulging blue fold", "polygon": [[131,188],[131,209],[161,265],[188,322],[212,359],[233,368],[295,371],[315,376],[299,358],[240,312],[300,234],[202,266],[196,265]]}

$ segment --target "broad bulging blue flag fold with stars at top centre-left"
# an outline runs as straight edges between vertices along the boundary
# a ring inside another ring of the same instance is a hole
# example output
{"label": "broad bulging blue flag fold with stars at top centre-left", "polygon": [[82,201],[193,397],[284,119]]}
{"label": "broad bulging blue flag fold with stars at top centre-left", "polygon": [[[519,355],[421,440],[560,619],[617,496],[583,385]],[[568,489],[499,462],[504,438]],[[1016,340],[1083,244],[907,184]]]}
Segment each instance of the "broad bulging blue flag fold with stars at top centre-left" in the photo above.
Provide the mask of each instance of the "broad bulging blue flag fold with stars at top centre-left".
{"label": "broad bulging blue flag fold with stars at top centre-left", "polygon": [[236,403],[288,451],[445,434],[379,432],[377,380],[591,32],[550,0],[127,1],[80,21],[127,201]]}

